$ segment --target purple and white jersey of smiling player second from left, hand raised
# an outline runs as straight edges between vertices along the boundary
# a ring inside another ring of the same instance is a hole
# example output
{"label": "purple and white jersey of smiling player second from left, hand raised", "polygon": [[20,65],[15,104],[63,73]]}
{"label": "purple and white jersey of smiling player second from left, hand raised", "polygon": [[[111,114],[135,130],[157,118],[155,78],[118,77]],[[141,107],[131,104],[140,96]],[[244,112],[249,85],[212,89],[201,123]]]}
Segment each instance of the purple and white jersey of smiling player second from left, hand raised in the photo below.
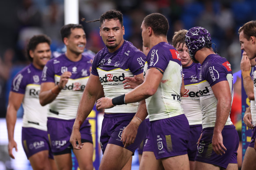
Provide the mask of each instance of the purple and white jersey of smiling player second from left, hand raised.
{"label": "purple and white jersey of smiling player second from left, hand raised", "polygon": [[65,88],[61,90],[56,99],[49,104],[48,117],[71,120],[76,118],[76,111],[87,84],[90,67],[90,58],[82,56],[79,61],[69,60],[65,54],[53,58],[43,68],[42,83],[60,82],[61,74],[65,71],[72,73]]}

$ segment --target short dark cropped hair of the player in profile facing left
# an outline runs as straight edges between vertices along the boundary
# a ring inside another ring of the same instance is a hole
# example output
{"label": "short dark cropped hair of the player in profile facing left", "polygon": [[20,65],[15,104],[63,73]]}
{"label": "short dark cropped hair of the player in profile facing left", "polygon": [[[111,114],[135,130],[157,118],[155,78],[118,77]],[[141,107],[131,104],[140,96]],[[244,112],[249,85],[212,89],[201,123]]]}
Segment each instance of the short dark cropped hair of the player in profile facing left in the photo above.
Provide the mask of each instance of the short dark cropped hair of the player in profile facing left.
{"label": "short dark cropped hair of the player in profile facing left", "polygon": [[151,27],[155,35],[167,35],[169,23],[165,16],[159,13],[149,14],[144,20],[146,27]]}

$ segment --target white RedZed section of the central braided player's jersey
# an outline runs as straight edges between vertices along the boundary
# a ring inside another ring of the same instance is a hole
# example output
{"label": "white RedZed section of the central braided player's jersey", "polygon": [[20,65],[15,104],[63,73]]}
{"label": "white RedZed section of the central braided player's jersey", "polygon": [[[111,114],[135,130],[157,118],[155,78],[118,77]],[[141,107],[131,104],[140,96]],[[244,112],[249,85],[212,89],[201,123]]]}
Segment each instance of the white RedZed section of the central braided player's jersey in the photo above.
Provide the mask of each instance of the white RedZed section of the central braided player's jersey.
{"label": "white RedZed section of the central braided player's jersey", "polygon": [[[133,73],[129,69],[123,70],[117,68],[110,71],[104,71],[97,68],[101,85],[103,85],[105,97],[115,98],[130,92],[132,89],[124,89],[123,81],[125,77],[133,77]],[[117,105],[110,109],[105,109],[106,113],[136,113],[139,103],[128,103],[126,105]]]}

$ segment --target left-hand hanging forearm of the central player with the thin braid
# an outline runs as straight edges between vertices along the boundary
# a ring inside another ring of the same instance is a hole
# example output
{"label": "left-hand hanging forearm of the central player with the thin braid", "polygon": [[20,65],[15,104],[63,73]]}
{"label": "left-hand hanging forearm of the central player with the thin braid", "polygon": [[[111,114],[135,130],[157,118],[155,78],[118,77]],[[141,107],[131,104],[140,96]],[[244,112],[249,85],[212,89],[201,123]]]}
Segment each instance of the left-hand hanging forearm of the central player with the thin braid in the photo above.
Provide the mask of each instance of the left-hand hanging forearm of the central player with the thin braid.
{"label": "left-hand hanging forearm of the central player with the thin braid", "polygon": [[73,127],[78,129],[81,127],[84,120],[89,116],[91,110],[93,109],[96,99],[97,94],[92,95],[86,89],[84,90],[77,109],[76,120]]}

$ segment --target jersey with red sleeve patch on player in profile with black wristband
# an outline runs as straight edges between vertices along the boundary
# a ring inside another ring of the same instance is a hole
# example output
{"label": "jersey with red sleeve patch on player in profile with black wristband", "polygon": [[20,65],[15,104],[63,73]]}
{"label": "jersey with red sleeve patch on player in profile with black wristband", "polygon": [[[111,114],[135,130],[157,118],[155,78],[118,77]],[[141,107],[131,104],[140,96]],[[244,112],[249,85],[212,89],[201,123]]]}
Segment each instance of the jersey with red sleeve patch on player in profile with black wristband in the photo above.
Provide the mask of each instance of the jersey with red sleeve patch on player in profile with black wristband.
{"label": "jersey with red sleeve patch on player in profile with black wristband", "polygon": [[182,66],[176,49],[165,42],[153,46],[147,56],[144,74],[149,68],[157,68],[163,74],[156,93],[146,99],[149,120],[184,114],[180,104]]}

